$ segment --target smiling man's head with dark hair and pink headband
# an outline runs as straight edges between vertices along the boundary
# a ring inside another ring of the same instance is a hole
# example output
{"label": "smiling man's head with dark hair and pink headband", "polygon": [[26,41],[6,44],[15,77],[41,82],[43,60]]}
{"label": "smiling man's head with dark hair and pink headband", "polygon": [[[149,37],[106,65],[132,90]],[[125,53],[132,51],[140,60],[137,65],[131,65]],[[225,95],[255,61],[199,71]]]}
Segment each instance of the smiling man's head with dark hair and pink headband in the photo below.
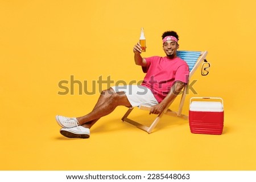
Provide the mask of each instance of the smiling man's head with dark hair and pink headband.
{"label": "smiling man's head with dark hair and pink headband", "polygon": [[176,57],[177,49],[179,49],[179,36],[174,31],[164,32],[162,35],[163,50],[169,58]]}

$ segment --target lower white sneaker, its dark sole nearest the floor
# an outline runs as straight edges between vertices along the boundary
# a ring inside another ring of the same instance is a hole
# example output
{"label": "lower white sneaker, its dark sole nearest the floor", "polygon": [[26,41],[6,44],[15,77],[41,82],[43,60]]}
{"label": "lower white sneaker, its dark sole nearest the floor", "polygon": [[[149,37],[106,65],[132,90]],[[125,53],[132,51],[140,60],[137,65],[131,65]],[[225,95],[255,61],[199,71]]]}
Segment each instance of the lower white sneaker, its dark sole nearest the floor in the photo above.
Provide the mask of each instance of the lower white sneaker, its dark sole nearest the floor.
{"label": "lower white sneaker, its dark sole nearest the floor", "polygon": [[60,133],[68,138],[89,138],[90,129],[83,126],[76,126],[73,128],[61,128]]}

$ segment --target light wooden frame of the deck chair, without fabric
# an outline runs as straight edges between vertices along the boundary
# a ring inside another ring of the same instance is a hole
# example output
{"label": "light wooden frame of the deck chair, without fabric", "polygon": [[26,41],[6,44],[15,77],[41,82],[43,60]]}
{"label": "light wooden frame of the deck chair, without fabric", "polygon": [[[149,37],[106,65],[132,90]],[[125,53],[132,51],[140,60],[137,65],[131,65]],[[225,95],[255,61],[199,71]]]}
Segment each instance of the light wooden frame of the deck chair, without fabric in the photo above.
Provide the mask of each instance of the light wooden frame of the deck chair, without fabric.
{"label": "light wooden frame of the deck chair, without fabric", "polygon": [[[195,65],[193,66],[193,68],[191,69],[191,71],[189,72],[189,81],[190,81],[190,78],[192,77],[193,73],[195,73],[195,71],[197,70],[197,68],[200,66],[200,64],[204,61],[204,59],[206,58],[208,52],[207,51],[203,51],[200,53],[200,56],[197,58],[197,61],[195,62]],[[186,60],[185,60],[186,61]],[[127,118],[131,111],[133,111],[134,108],[130,108],[128,109],[128,111],[125,113],[125,115],[122,117],[122,121],[126,121],[126,122],[129,122],[130,124],[134,125],[134,126],[137,126],[137,128],[139,129],[142,129],[144,130],[145,132],[147,133],[151,133],[152,130],[155,128],[155,126],[158,124],[158,122],[160,121],[160,118],[166,114],[166,115],[171,115],[171,116],[177,116],[177,117],[181,117],[181,118],[184,118],[184,119],[188,119],[188,116],[185,116],[185,115],[182,115],[181,112],[182,112],[182,108],[183,108],[183,105],[184,105],[184,101],[185,101],[185,96],[186,96],[186,93],[187,93],[187,90],[188,90],[188,84],[185,85],[184,89],[183,89],[183,94],[181,96],[181,99],[180,99],[180,105],[179,105],[179,109],[177,112],[175,111],[172,111],[171,109],[169,109],[170,105],[172,104],[172,102],[174,100],[172,100],[167,106],[166,108],[164,108],[164,111],[162,113],[160,113],[156,118],[155,120],[152,122],[152,124],[148,127],[146,125],[142,125],[140,124],[139,122],[137,121],[134,121],[134,120],[131,120],[129,118]],[[139,106],[139,109],[143,109],[145,111],[150,111],[151,110],[151,107],[149,106],[146,106],[146,105],[140,105]]]}

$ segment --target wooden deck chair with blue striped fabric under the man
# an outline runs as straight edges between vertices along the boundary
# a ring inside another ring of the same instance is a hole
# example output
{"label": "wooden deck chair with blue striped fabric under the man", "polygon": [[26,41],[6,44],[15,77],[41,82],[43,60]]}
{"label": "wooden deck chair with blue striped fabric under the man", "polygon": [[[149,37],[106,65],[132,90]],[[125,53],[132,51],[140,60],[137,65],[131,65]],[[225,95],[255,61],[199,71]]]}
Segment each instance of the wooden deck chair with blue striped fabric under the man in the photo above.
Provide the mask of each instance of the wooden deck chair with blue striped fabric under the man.
{"label": "wooden deck chair with blue striped fabric under the man", "polygon": [[[178,50],[177,51],[177,57],[180,57],[181,59],[185,60],[189,66],[189,79],[191,78],[191,76],[193,75],[193,73],[195,73],[196,69],[200,66],[201,63],[203,63],[203,61],[205,60],[206,56],[207,56],[207,51],[203,51],[203,52],[198,52],[198,51],[185,51],[185,50]],[[162,113],[160,113],[155,120],[152,122],[152,124],[148,127],[146,125],[142,125],[137,121],[134,120],[130,120],[129,118],[127,118],[131,111],[133,111],[134,108],[129,108],[128,111],[125,113],[125,115],[122,117],[122,121],[126,121],[129,122],[130,124],[137,126],[137,128],[144,130],[147,133],[151,133],[152,130],[155,128],[155,126],[158,124],[160,118],[164,115],[171,115],[171,116],[177,116],[177,117],[181,117],[184,119],[188,119],[188,116],[182,115],[181,111],[184,105],[184,101],[185,101],[185,96],[188,90],[188,84],[185,85],[185,87],[183,88],[183,94],[181,96],[180,99],[180,104],[179,104],[179,109],[177,112],[172,111],[171,109],[169,109],[170,105],[172,104],[172,101],[166,106],[166,108],[164,108],[164,111]],[[147,105],[139,105],[139,109],[143,109],[145,111],[150,111],[151,107],[147,106]]]}

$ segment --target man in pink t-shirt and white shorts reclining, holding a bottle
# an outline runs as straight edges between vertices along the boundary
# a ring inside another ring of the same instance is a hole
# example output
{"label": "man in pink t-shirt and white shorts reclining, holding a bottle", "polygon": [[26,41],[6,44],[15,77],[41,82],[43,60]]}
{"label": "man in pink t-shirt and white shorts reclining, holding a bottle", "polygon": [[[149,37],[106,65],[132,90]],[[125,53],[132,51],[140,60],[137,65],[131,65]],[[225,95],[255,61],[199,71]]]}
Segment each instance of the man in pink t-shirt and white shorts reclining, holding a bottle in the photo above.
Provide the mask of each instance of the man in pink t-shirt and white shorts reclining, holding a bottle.
{"label": "man in pink t-shirt and white shorts reclining, holding a bottle", "polygon": [[166,57],[142,58],[140,44],[137,43],[133,48],[135,64],[142,66],[146,73],[140,86],[113,86],[102,91],[92,112],[85,116],[56,116],[57,123],[62,127],[60,133],[69,138],[89,138],[93,124],[113,112],[118,105],[129,108],[141,104],[150,105],[150,114],[161,113],[188,83],[189,75],[187,63],[176,56],[179,48],[177,33],[164,32],[162,40]]}

